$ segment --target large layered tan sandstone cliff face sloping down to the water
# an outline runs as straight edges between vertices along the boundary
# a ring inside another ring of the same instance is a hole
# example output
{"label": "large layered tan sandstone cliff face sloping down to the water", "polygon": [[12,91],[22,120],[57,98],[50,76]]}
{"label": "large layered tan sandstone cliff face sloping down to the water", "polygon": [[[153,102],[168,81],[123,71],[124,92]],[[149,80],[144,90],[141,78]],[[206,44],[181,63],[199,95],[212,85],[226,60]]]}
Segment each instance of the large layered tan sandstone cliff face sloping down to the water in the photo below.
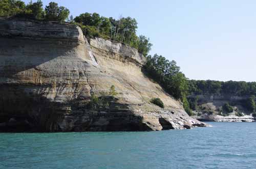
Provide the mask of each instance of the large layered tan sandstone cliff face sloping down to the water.
{"label": "large layered tan sandstone cliff face sloping down to the water", "polygon": [[[0,131],[147,131],[206,126],[142,72],[125,44],[68,23],[0,19]],[[114,85],[115,101],[88,108]],[[150,103],[159,97],[166,108]]]}

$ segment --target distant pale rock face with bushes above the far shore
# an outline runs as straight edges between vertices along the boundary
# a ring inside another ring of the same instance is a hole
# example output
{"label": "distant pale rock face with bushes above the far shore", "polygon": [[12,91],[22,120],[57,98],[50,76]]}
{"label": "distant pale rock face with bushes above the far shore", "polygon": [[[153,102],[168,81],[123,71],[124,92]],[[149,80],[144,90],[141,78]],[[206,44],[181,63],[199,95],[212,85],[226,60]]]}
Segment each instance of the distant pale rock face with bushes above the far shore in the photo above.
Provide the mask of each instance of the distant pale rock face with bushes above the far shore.
{"label": "distant pale rock face with bushes above the far shore", "polygon": [[[255,122],[252,112],[244,107],[250,96],[233,96],[223,94],[191,95],[188,99],[198,99],[197,110],[193,118],[203,122]],[[222,106],[229,103],[233,112],[224,112]],[[222,116],[220,116],[222,115]],[[225,115],[225,116],[224,116]],[[238,116],[240,115],[240,116]]]}

